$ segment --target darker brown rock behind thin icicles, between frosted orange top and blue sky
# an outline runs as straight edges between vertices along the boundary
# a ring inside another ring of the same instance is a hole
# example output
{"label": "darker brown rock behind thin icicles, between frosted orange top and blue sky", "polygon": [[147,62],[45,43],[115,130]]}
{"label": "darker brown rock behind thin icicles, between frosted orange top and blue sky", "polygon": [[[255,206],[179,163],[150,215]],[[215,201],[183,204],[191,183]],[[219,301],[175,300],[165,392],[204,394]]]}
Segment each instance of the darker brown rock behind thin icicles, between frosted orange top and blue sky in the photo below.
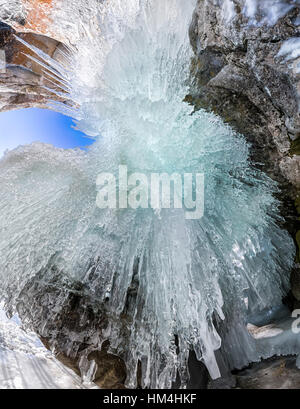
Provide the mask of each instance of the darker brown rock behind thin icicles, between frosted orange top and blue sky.
{"label": "darker brown rock behind thin icicles, between frosted orange top and blue sky", "polygon": [[[39,34],[18,33],[18,37],[53,58],[63,48],[57,40]],[[50,82],[45,75],[47,70],[30,56],[41,59],[16,39],[16,31],[11,26],[1,22],[0,50],[0,112],[16,108],[46,108],[50,99],[68,103],[67,96],[64,98],[50,91],[50,88],[60,90],[59,83]]]}

